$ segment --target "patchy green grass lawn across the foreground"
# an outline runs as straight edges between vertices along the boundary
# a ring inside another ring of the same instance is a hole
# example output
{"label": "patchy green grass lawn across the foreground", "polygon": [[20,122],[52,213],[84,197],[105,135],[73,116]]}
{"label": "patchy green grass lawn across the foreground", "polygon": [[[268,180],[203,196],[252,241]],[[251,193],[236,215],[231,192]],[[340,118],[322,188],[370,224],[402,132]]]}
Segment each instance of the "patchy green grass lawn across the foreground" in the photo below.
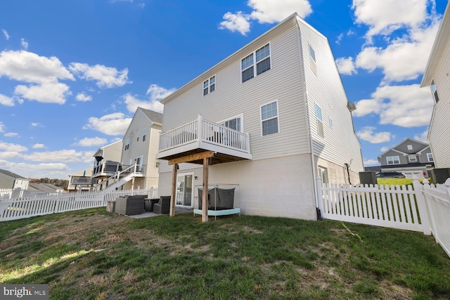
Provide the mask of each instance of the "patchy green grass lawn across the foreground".
{"label": "patchy green grass lawn across the foreground", "polygon": [[0,283],[51,299],[450,299],[450,258],[403,230],[105,208],[0,226]]}

